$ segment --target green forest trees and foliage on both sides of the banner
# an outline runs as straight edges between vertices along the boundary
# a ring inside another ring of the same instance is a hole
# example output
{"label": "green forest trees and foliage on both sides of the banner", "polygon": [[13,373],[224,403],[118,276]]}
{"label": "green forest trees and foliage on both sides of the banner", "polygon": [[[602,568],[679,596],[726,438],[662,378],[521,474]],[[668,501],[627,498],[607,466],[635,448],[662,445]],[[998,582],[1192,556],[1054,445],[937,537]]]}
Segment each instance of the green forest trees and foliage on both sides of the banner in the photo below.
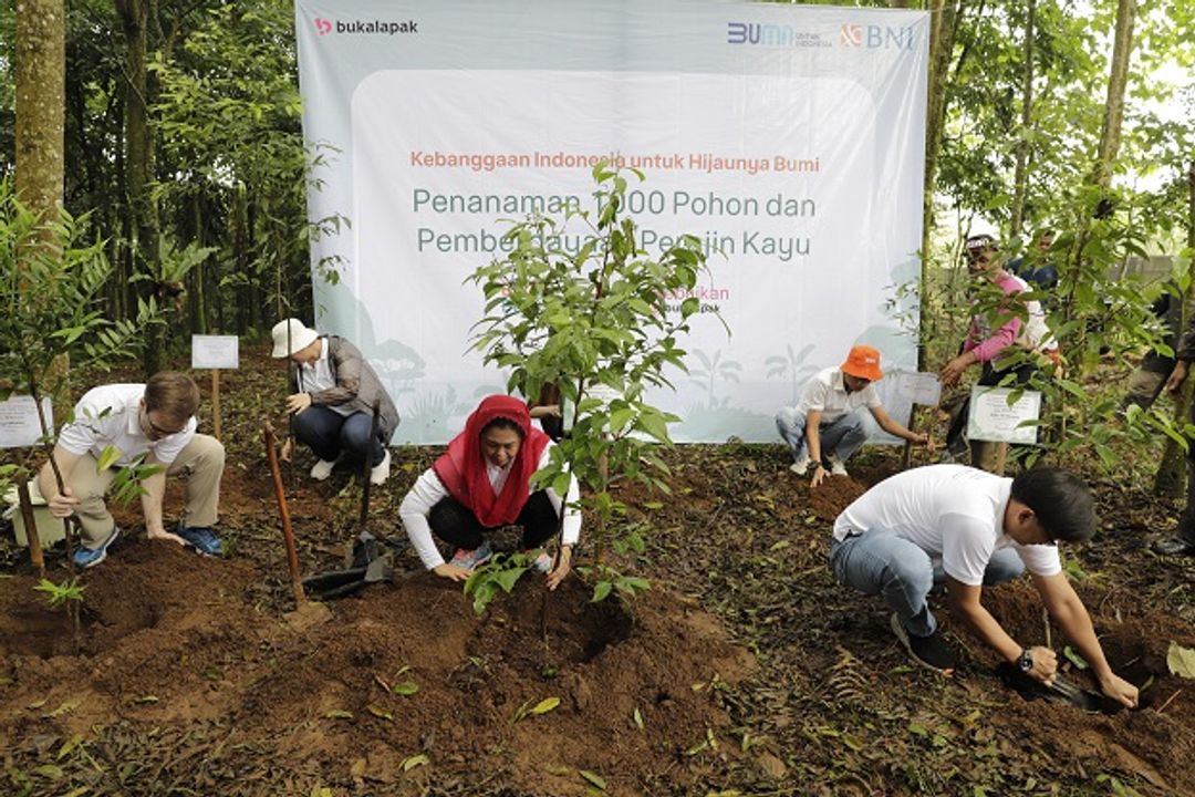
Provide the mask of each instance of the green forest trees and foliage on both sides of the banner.
{"label": "green forest trees and foliage on both sides of the banner", "polygon": [[[931,13],[924,268],[894,287],[919,293],[923,367],[939,367],[967,323],[962,238],[992,232],[1007,257],[1032,257],[1035,235],[1055,231],[1061,280],[1046,304],[1067,368],[1040,385],[1044,450],[1145,462],[1134,478],[1172,491],[1182,412],[1163,403],[1122,423],[1115,406],[1135,357],[1166,351],[1151,304],[1189,290],[1195,44],[1182,31],[1195,10],[859,5]],[[282,315],[310,318],[313,272],[335,282],[351,268],[310,259],[312,240],[351,219],[307,217],[336,153],[302,139],[292,4],[22,0],[0,8],[0,69],[6,244],[14,194],[74,220],[68,250],[100,241],[104,314],[129,321],[149,302],[165,321],[145,330],[146,373],[191,333],[253,341]]]}

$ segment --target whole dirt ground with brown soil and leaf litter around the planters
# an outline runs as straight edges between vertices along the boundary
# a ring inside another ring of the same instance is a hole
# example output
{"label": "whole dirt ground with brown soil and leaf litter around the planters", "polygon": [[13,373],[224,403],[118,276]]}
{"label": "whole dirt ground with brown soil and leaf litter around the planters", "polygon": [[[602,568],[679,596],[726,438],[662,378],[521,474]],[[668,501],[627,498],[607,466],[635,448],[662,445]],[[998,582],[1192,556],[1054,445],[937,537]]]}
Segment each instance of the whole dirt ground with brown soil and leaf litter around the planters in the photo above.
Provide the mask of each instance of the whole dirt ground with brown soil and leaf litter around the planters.
{"label": "whole dirt ground with brown soil and leaf litter around the planters", "polygon": [[[76,636],[0,542],[0,793],[1195,795],[1195,683],[1165,663],[1171,642],[1195,646],[1195,562],[1145,547],[1169,502],[1097,483],[1101,534],[1066,551],[1144,687],[1142,709],[1110,716],[1010,692],[944,611],[964,666],[913,668],[882,603],[834,583],[831,522],[896,470],[888,452],[810,493],[780,446],[676,449],[672,496],[619,496],[650,529],[630,565],[654,588],[630,605],[590,603],[577,578],[545,601],[537,577],[476,617],[406,553],[394,583],[296,613],[261,442],[282,376],[243,362],[222,380],[226,559],[148,542],[122,510],[130,533],[84,576]],[[437,453],[396,450],[370,531],[402,535],[398,502]],[[360,489],[307,465],[287,485],[311,574],[342,566]],[[1029,583],[985,605],[1046,640]]]}

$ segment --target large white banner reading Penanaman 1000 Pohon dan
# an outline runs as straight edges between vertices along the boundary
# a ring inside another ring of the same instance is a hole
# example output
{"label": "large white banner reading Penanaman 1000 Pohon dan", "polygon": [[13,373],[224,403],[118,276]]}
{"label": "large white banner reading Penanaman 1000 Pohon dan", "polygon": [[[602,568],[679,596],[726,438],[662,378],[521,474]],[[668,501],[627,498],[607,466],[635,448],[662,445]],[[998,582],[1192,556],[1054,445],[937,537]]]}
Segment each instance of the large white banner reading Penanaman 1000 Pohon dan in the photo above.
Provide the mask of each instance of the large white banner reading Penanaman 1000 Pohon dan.
{"label": "large white banner reading Penanaman 1000 Pohon dan", "polygon": [[483,298],[464,281],[503,256],[510,220],[594,208],[601,158],[646,176],[629,197],[645,250],[691,233],[709,253],[690,372],[652,397],[678,440],[777,440],[776,411],[856,343],[889,374],[914,367],[897,287],[919,271],[924,12],[299,0],[296,19],[305,134],[326,161],[311,215],[350,222],[314,246],[342,264],[338,284],[315,281],[315,321],[382,375],[397,442],[445,442],[504,392],[470,350]]}

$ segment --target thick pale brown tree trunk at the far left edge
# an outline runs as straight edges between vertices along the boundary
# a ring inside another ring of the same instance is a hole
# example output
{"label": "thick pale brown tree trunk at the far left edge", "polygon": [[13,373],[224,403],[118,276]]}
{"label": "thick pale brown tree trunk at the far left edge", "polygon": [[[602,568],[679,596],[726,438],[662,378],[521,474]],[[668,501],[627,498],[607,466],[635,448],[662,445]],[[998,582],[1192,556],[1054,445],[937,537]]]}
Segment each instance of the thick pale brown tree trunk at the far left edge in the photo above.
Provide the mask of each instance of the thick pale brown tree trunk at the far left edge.
{"label": "thick pale brown tree trunk at the far left edge", "polygon": [[17,4],[17,174],[20,201],[51,220],[62,208],[66,115],[63,0]]}

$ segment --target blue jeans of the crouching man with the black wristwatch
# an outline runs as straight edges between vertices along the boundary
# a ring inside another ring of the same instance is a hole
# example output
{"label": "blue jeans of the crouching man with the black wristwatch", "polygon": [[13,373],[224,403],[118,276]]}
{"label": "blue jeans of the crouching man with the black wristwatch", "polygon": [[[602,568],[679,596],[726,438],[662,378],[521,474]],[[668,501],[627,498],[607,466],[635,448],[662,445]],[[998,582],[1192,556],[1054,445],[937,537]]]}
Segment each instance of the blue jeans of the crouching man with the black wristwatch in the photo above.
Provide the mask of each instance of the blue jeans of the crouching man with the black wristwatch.
{"label": "blue jeans of the crouching man with the black wristwatch", "polygon": [[[938,630],[925,599],[934,584],[945,581],[945,574],[913,542],[884,529],[834,540],[829,568],[839,582],[866,595],[882,596],[913,636],[929,637]],[[1015,550],[1001,548],[987,563],[983,586],[1010,582],[1024,570]]]}

